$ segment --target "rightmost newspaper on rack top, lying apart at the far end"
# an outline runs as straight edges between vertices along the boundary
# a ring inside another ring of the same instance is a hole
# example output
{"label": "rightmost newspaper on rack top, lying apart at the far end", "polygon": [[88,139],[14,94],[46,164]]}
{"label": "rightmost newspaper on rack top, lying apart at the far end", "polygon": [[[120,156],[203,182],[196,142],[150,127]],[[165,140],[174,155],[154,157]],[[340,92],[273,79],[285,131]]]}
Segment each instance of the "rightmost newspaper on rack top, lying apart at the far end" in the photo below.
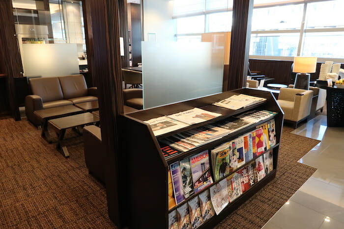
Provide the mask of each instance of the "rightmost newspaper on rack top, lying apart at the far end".
{"label": "rightmost newspaper on rack top, lying apart at the far end", "polygon": [[265,101],[265,98],[248,96],[244,94],[234,95],[220,102],[213,103],[214,105],[221,106],[231,110],[238,110],[243,107],[254,105],[258,102]]}

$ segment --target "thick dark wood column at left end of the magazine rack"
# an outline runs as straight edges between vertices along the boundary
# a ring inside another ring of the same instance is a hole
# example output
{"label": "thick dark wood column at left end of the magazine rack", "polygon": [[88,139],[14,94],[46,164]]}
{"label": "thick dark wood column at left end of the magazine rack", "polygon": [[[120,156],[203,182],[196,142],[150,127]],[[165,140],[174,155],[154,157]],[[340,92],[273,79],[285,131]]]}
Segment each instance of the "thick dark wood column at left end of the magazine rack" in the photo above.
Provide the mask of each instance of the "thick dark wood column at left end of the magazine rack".
{"label": "thick dark wood column at left end of the magazine rack", "polygon": [[[87,56],[98,86],[105,182],[110,219],[120,226],[118,204],[118,116],[123,113],[117,0],[83,0]],[[96,152],[95,152],[96,153]]]}

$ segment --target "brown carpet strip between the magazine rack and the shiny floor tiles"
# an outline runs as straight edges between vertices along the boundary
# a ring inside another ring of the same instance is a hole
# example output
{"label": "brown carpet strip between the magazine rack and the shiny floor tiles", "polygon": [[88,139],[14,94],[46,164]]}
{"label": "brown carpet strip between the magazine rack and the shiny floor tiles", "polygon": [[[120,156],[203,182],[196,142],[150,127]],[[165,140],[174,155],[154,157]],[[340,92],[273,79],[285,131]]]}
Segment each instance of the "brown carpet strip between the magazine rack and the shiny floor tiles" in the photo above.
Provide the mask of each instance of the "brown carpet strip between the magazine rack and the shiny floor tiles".
{"label": "brown carpet strip between the magazine rack and the shiny floor tiles", "polygon": [[292,134],[292,130],[283,127],[276,178],[232,212],[216,229],[260,229],[316,171],[297,161],[319,141]]}

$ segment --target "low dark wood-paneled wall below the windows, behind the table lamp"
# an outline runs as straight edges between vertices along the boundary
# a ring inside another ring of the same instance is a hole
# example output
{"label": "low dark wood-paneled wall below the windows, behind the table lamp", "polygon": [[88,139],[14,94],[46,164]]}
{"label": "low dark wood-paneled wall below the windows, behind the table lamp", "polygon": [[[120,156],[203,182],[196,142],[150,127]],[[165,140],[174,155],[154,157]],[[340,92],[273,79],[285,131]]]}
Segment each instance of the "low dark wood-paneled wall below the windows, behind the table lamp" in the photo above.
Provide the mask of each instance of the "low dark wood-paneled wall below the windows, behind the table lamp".
{"label": "low dark wood-paneled wall below the windows, behind the table lamp", "polygon": [[[291,75],[291,65],[293,61],[286,60],[261,60],[250,59],[250,70],[259,71],[261,75],[274,78],[274,83],[292,84],[295,79]],[[316,72],[311,74],[311,81],[319,77],[320,66],[323,62],[316,64]],[[344,68],[344,64],[342,64]]]}

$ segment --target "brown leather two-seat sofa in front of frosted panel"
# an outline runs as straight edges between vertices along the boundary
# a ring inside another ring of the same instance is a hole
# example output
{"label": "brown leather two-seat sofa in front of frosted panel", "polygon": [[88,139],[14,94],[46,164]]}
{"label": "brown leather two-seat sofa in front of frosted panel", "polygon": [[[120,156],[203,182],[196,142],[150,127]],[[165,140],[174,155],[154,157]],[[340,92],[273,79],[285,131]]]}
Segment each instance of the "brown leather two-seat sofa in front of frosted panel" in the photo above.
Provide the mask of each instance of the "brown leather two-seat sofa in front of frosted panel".
{"label": "brown leather two-seat sofa in front of frosted panel", "polygon": [[31,78],[29,84],[33,95],[25,98],[25,113],[36,126],[41,123],[35,110],[98,100],[97,88],[87,88],[83,75]]}

